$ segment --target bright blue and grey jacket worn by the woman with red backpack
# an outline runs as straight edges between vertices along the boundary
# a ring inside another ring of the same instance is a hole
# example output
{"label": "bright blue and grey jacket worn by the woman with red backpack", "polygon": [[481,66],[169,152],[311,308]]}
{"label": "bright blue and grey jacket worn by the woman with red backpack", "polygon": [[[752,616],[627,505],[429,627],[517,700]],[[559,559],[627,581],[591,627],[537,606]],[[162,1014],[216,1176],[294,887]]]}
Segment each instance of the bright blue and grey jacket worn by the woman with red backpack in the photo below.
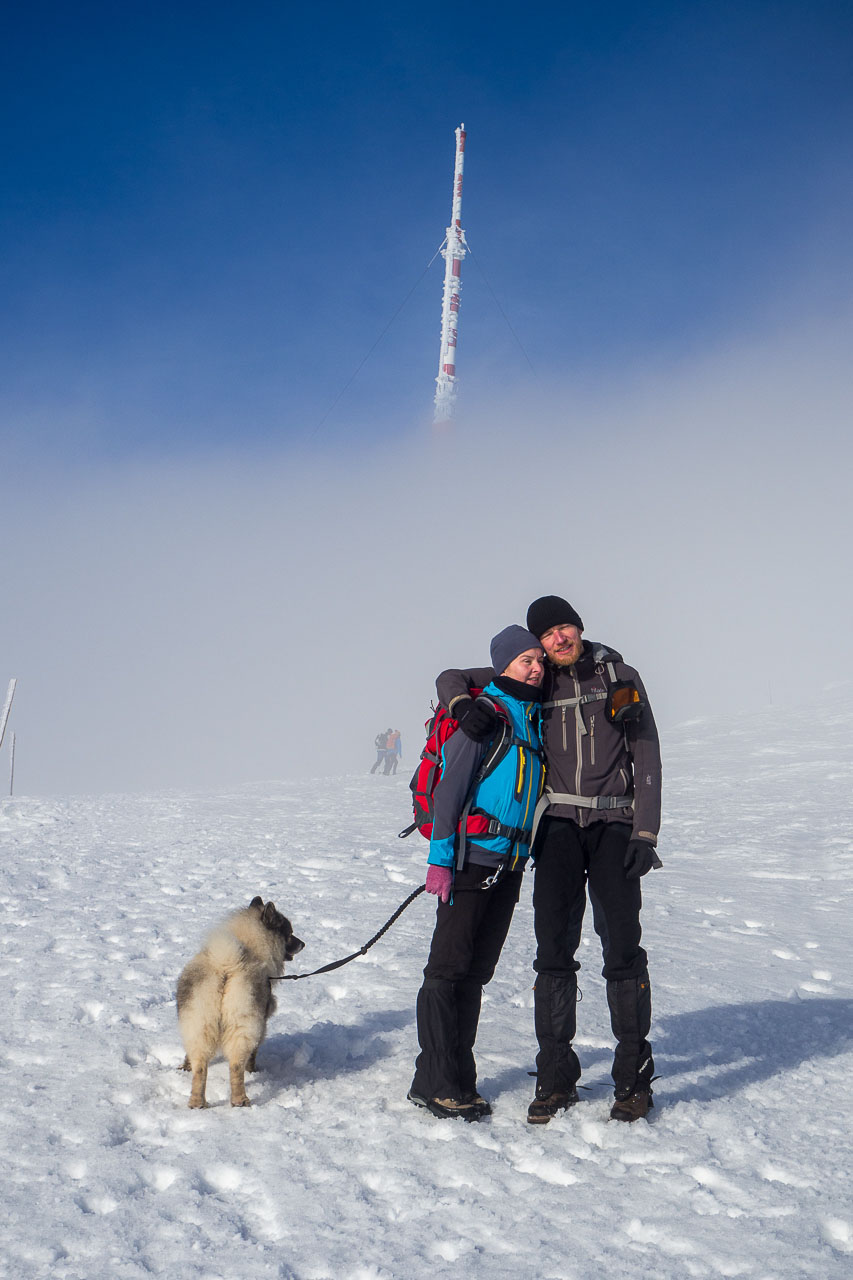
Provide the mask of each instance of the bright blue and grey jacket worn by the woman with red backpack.
{"label": "bright blue and grey jacket worn by the woman with red backpack", "polygon": [[[540,703],[523,701],[494,682],[487,685],[483,694],[501,703],[506,710],[512,741],[494,769],[479,782],[475,781],[476,773],[492,742],[473,742],[459,731],[444,744],[442,776],[433,795],[428,859],[438,867],[453,867],[456,863],[459,823],[469,796],[471,814],[488,814],[502,827],[512,828],[516,836],[533,828],[533,812],[544,778]],[[466,837],[466,861],[485,867],[500,867],[507,859],[512,865],[521,864],[529,854],[530,845],[523,838],[485,833]]]}

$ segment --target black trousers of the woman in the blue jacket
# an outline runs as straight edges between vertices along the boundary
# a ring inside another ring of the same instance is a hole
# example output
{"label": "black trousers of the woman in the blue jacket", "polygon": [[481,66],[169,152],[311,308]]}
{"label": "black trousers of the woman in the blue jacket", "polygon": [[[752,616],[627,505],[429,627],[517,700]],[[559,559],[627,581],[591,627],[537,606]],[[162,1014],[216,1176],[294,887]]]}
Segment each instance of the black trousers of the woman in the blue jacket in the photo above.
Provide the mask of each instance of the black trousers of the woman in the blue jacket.
{"label": "black trousers of the woman in the blue jacket", "polygon": [[521,892],[521,870],[469,864],[456,873],[452,902],[438,904],[435,931],[418,992],[418,1043],[411,1092],[465,1101],[476,1092],[474,1041],[483,987],[491,982]]}

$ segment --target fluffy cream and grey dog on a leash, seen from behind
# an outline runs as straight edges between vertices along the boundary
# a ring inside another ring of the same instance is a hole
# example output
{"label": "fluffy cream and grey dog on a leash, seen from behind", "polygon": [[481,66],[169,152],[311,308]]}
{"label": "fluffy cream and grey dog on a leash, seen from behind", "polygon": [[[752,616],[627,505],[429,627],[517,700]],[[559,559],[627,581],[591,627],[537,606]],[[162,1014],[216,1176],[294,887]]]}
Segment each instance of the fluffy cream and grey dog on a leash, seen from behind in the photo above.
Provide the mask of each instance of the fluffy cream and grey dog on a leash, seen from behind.
{"label": "fluffy cream and grey dog on a leash, seen from behind", "polygon": [[232,1107],[251,1106],[245,1073],[275,1012],[270,978],[280,978],[284,961],[302,947],[291,922],[274,902],[254,897],[223,920],[178,978],[178,1025],[192,1071],[191,1107],[206,1107],[207,1065],[219,1050],[231,1069]]}

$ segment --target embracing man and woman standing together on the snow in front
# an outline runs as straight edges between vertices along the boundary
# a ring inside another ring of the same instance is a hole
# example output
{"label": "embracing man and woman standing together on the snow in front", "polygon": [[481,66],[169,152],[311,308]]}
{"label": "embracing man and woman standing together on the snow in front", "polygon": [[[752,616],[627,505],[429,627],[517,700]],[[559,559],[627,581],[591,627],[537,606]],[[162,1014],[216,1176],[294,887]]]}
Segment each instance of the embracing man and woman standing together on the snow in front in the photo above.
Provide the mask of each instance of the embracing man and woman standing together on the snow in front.
{"label": "embracing man and woman standing together on the snow in front", "polygon": [[526,628],[494,636],[492,667],[444,671],[437,681],[459,731],[434,792],[426,891],[438,904],[409,1098],[442,1119],[479,1120],[492,1110],[478,1092],[474,1042],[528,856],[539,1043],[528,1121],[547,1124],[578,1102],[575,955],[587,892],[616,1039],[610,1115],[638,1120],[653,1106],[639,881],[661,865],[660,745],[638,673],[583,630],[567,600],[542,596]]}

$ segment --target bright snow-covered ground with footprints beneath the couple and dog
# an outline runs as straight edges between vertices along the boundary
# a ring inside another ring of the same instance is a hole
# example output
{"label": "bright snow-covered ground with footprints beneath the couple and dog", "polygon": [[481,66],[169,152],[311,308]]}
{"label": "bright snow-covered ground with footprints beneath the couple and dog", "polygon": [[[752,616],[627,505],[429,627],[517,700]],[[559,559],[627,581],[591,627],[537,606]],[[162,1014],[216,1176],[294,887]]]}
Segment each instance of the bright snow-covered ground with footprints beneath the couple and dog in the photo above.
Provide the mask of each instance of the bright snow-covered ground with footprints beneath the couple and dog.
{"label": "bright snow-covered ground with footprints beneath the couple and dog", "polygon": [[174,1010],[202,934],[255,893],[307,972],[423,881],[407,773],[211,795],[0,801],[3,1275],[79,1280],[853,1274],[853,695],[665,735],[665,869],[644,883],[660,1071],[607,1121],[611,1039],[584,942],[589,1087],[525,1123],[523,892],[478,1041],[494,1115],[406,1101],[434,904],[362,959],[280,984],[232,1110],[190,1111]]}

